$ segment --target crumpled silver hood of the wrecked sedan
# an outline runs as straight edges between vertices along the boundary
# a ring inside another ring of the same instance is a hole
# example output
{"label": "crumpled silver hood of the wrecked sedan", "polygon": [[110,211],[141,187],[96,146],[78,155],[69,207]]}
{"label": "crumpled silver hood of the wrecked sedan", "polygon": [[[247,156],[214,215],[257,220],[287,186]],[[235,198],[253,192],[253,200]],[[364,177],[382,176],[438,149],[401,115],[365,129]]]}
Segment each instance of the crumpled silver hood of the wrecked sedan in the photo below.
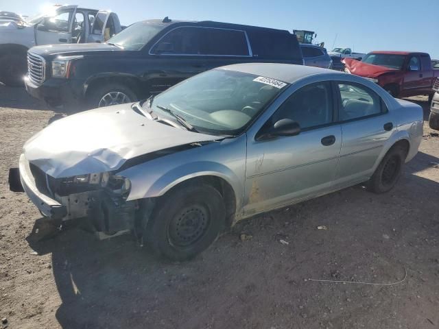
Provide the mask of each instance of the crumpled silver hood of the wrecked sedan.
{"label": "crumpled silver hood of the wrecked sedan", "polygon": [[131,104],[98,108],[51,123],[27,141],[25,157],[54,178],[119,169],[126,160],[221,137],[152,121]]}

